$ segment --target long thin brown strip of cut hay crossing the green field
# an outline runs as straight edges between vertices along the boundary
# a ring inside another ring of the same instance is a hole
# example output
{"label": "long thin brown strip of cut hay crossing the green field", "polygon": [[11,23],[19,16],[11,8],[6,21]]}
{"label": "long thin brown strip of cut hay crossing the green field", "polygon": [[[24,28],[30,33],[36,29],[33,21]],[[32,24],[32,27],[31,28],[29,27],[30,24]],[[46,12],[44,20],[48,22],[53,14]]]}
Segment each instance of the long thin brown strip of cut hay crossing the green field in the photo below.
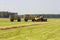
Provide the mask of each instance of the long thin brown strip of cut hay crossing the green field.
{"label": "long thin brown strip of cut hay crossing the green field", "polygon": [[[47,23],[47,22],[43,22]],[[16,25],[16,26],[6,26],[6,27],[0,27],[0,30],[7,30],[7,29],[13,29],[13,28],[20,28],[20,27],[28,27],[28,26],[35,26],[35,25],[41,25],[43,24],[41,22],[36,22],[34,24],[22,24],[22,25]]]}

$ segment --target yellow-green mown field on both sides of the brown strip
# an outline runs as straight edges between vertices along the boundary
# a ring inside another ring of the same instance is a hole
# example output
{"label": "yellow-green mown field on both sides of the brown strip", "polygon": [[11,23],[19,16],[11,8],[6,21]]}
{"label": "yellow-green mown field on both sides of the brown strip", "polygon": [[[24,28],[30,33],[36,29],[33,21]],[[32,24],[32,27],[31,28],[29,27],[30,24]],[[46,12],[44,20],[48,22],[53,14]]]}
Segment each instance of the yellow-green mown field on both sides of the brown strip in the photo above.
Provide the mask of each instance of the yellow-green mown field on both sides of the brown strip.
{"label": "yellow-green mown field on both sides of the brown strip", "polygon": [[[37,22],[10,22],[9,19],[0,19],[0,27]],[[40,25],[0,30],[0,40],[60,40],[60,19],[50,18]]]}

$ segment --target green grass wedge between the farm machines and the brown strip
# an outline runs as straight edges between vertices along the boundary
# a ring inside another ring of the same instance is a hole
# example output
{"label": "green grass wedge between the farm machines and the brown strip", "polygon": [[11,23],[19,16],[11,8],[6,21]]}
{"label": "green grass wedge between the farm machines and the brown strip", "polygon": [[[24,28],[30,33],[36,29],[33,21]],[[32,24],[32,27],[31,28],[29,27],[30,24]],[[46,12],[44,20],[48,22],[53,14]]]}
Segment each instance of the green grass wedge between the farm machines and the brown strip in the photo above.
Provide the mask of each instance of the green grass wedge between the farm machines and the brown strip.
{"label": "green grass wedge between the farm machines and the brown strip", "polygon": [[31,20],[29,20],[29,22],[25,22],[24,19],[22,19],[21,22],[17,22],[17,20],[14,20],[14,22],[11,22],[9,18],[7,19],[0,18],[0,27],[29,24],[29,23],[33,23],[33,22],[31,22]]}

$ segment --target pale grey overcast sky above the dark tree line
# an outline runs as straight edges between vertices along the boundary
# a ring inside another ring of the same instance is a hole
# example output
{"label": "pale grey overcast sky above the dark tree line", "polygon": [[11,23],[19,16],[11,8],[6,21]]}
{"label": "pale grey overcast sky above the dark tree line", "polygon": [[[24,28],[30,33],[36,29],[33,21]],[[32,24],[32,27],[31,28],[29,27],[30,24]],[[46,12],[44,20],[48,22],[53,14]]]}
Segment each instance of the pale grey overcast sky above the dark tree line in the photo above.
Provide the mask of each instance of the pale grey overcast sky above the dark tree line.
{"label": "pale grey overcast sky above the dark tree line", "polygon": [[57,14],[60,13],[60,0],[0,0],[0,11]]}

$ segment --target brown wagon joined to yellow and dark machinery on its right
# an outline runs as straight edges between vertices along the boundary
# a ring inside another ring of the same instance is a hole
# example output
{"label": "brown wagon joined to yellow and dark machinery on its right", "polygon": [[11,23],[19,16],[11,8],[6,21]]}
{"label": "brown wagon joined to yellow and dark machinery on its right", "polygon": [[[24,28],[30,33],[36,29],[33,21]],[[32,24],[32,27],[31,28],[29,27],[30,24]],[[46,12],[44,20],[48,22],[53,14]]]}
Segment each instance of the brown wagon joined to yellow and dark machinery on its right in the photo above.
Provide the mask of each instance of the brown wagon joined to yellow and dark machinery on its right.
{"label": "brown wagon joined to yellow and dark machinery on its right", "polygon": [[24,15],[24,20],[26,22],[28,20],[32,20],[32,22],[47,22],[47,18],[44,18],[43,16],[37,17],[37,16],[30,16],[29,14]]}

